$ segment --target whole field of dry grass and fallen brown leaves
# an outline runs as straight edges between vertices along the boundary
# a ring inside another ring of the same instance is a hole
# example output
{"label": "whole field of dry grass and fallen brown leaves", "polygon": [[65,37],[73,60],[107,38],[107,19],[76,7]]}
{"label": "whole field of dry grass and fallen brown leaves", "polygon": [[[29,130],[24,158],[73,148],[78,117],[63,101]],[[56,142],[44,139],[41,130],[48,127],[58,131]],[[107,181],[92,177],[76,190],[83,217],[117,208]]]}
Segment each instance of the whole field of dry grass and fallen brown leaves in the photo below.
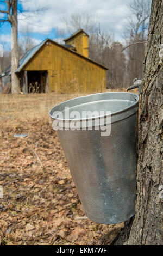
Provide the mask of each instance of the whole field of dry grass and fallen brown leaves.
{"label": "whole field of dry grass and fallen brown leaves", "polygon": [[0,95],[1,245],[109,245],[123,227],[85,216],[52,129],[49,109],[76,96]]}

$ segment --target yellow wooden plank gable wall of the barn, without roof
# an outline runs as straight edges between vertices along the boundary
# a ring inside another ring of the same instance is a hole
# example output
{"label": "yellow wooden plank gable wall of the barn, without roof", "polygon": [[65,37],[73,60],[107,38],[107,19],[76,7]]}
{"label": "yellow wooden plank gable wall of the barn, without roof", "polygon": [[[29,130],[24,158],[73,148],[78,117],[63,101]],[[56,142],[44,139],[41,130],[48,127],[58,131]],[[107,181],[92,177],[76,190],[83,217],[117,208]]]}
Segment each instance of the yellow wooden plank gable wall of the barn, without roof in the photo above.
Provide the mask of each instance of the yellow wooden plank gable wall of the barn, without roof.
{"label": "yellow wooden plank gable wall of the barn, without roof", "polygon": [[44,45],[23,70],[48,70],[49,92],[103,92],[106,71],[52,43]]}

